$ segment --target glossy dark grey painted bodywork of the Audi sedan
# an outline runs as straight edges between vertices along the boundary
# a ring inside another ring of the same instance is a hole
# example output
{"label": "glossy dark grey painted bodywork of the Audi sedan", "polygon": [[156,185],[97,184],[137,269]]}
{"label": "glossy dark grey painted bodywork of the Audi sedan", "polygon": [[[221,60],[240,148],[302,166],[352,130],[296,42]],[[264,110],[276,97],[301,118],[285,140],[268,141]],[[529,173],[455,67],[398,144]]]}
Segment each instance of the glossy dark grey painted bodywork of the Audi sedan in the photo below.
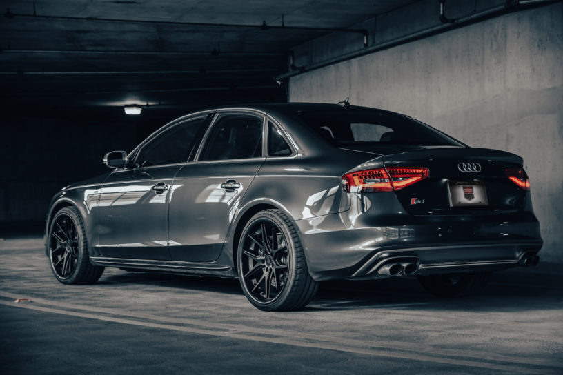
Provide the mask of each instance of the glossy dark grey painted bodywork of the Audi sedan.
{"label": "glossy dark grey painted bodywork of the Audi sedan", "polygon": [[[250,216],[271,208],[295,221],[317,280],[371,278],[374,267],[393,256],[415,257],[424,274],[453,266],[512,267],[540,250],[531,196],[504,175],[506,168],[522,166],[519,156],[464,145],[337,148],[292,116],[307,108],[323,106],[258,105],[194,114],[264,116],[262,156],[199,161],[194,153],[185,163],[148,168],[129,163],[61,190],[48,221],[64,205],[75,205],[91,260],[99,265],[217,276],[236,276],[237,236]],[[167,126],[186,119],[190,116]],[[268,156],[268,121],[284,134],[289,156]],[[135,150],[128,157],[134,158]],[[460,162],[478,162],[482,172],[460,172]],[[396,192],[342,188],[347,172],[402,166],[428,168],[430,174]],[[482,183],[490,204],[451,207],[449,181]]]}

